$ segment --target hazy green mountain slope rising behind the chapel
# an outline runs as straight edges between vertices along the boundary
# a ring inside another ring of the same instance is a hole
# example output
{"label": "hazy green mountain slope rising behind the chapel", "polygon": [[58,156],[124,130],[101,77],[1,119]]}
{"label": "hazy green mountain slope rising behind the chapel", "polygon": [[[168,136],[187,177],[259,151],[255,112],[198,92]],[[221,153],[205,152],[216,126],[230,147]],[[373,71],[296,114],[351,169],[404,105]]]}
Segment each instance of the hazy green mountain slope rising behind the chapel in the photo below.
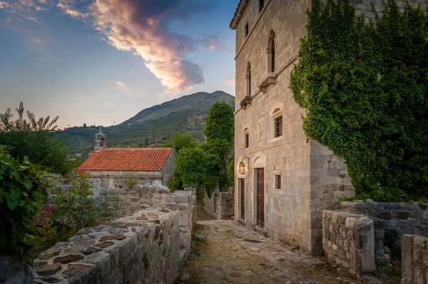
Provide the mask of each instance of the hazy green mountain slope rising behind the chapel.
{"label": "hazy green mountain slope rising behind the chapel", "polygon": [[[103,127],[108,147],[145,147],[168,142],[175,131],[191,133],[203,141],[205,120],[215,102],[226,102],[235,109],[235,97],[216,91],[194,93],[146,108],[120,125]],[[58,132],[66,135],[72,154],[86,154],[93,151],[94,134],[98,127],[71,127]]]}

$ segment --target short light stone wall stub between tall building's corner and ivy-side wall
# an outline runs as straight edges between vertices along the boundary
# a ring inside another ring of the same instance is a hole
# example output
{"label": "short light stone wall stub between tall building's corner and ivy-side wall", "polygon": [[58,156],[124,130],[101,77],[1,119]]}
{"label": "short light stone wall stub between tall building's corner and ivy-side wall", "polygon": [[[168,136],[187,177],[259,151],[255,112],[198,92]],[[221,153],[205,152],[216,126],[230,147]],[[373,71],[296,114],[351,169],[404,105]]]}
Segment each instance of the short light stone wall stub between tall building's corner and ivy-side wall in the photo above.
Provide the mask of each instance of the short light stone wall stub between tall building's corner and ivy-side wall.
{"label": "short light stone wall stub between tall building's corner and ivy-side wall", "polygon": [[353,275],[373,273],[373,223],[364,215],[323,211],[322,246],[327,258]]}

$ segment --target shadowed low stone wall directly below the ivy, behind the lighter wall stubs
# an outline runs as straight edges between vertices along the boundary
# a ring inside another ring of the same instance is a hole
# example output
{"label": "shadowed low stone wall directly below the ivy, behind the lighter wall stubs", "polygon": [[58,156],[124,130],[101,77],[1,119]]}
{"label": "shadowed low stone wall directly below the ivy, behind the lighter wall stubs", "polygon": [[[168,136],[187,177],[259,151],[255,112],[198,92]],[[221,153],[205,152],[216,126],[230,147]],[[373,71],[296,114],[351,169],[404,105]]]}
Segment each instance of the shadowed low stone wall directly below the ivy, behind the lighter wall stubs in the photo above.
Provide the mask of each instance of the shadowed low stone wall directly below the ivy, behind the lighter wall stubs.
{"label": "shadowed low stone wall directly below the ivy, behind the lighter wall stubs", "polygon": [[389,262],[389,248],[384,246],[387,231],[397,232],[397,243],[404,234],[428,237],[428,204],[424,203],[384,203],[384,202],[342,202],[342,211],[364,214],[374,221],[374,245],[376,263]]}

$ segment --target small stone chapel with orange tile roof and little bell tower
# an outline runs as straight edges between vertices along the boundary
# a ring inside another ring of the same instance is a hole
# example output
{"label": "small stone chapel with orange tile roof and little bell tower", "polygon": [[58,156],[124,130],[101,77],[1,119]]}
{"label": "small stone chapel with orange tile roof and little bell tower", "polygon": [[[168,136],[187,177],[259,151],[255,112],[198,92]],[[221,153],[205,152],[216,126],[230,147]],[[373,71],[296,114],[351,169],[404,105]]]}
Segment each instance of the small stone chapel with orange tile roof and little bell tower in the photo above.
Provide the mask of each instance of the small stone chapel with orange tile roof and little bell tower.
{"label": "small stone chapel with orange tile roof and little bell tower", "polygon": [[94,142],[95,152],[76,170],[89,174],[95,194],[131,179],[140,185],[166,185],[173,176],[173,148],[106,148],[101,132]]}

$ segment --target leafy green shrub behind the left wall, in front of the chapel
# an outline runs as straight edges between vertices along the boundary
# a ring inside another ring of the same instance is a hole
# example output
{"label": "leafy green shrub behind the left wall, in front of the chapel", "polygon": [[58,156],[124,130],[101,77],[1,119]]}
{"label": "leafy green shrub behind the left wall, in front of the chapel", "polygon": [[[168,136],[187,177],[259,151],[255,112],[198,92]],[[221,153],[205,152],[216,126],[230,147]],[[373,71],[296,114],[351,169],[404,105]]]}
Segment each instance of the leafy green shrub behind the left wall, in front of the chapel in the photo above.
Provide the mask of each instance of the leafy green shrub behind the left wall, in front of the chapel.
{"label": "leafy green shrub behind the left wall, in front of the chapel", "polygon": [[56,192],[54,200],[58,206],[58,221],[73,228],[85,228],[95,223],[95,209],[88,182],[88,174],[79,172],[71,179],[71,189],[67,192]]}

